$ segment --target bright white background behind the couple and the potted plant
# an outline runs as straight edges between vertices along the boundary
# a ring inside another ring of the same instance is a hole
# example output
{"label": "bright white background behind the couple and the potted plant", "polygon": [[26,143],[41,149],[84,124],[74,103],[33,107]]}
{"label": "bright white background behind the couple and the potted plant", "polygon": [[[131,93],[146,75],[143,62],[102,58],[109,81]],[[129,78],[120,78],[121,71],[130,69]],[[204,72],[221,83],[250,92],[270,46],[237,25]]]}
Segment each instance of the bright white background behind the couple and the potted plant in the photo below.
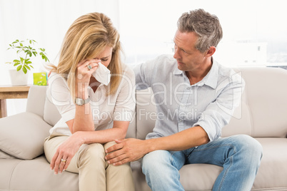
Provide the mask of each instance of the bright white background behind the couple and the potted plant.
{"label": "bright white background behind the couple and the potted plant", "polygon": [[[11,52],[6,51],[9,43],[16,38],[33,38],[39,46],[46,48],[50,61],[56,63],[68,27],[79,16],[94,11],[109,16],[119,29],[129,65],[161,53],[172,53],[178,17],[183,12],[199,8],[216,14],[221,21],[223,39],[214,55],[221,64],[251,66],[256,63],[259,66],[281,62],[281,65],[286,65],[285,1],[0,0],[0,86],[10,83],[9,66],[4,64],[13,60]],[[260,53],[256,46],[263,47]],[[251,51],[246,54],[249,48]],[[256,55],[251,55],[251,52]],[[263,62],[266,64],[261,64]],[[41,61],[39,63],[37,66],[41,66]],[[40,68],[34,72],[37,70]],[[31,83],[32,76],[29,78]],[[7,103],[9,115],[24,111],[24,100],[10,101],[12,103]]]}

